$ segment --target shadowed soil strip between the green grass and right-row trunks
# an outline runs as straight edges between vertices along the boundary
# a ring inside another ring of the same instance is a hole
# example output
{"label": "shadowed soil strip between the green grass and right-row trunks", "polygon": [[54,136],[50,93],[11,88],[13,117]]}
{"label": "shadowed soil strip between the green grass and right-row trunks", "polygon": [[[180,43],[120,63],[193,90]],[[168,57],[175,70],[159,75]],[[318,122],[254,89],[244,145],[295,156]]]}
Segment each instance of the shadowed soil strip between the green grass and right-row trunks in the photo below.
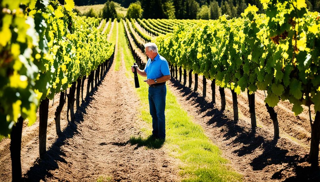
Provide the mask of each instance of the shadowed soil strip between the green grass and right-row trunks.
{"label": "shadowed soil strip between the green grass and right-row trunks", "polygon": [[[220,106],[213,107],[211,99],[203,98],[202,94],[184,87],[175,79],[171,79],[168,88],[183,109],[193,116],[194,122],[204,128],[223,157],[243,174],[244,181],[320,180],[319,171],[310,172],[310,165],[306,162],[309,151],[302,145],[286,137],[273,140],[273,132],[268,127],[258,127],[256,133],[252,133],[246,117],[240,115],[238,122],[233,121],[232,108],[221,113]],[[220,103],[220,97],[216,96],[216,102]]]}

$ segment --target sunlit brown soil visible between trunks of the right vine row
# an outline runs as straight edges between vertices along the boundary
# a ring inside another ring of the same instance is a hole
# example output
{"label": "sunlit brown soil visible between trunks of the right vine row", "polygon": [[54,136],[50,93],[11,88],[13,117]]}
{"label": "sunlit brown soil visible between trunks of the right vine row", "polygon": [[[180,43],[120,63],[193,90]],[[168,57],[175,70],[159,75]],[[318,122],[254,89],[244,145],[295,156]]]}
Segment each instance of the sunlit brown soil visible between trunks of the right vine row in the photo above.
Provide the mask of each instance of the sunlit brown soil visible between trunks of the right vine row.
{"label": "sunlit brown soil visible between trunks of the right vine row", "polygon": [[[183,70],[182,70],[183,72]],[[187,84],[188,87],[188,71],[187,71]],[[179,79],[179,71],[178,71],[178,79]],[[192,90],[194,89],[194,75],[192,75]],[[183,83],[183,76],[181,82]],[[203,90],[203,77],[198,76],[198,93],[202,95]],[[211,91],[211,80],[207,80],[206,84],[206,98],[212,101],[212,91]],[[216,86],[215,90],[216,96],[216,108],[221,108],[221,101],[220,101],[220,93],[219,87]],[[226,94],[226,108],[231,113],[233,112],[232,109],[232,94],[229,89],[225,89]],[[250,113],[249,113],[249,104],[248,104],[248,96],[247,92],[241,92],[241,95],[238,96],[238,110],[239,110],[239,117],[242,117],[247,123],[251,123],[250,120]],[[273,124],[272,120],[270,119],[270,115],[267,112],[267,108],[264,103],[265,95],[263,91],[257,91],[255,94],[255,108],[256,108],[256,118],[257,118],[257,125],[269,132],[273,133]],[[289,140],[294,140],[298,142],[301,146],[306,149],[310,147],[310,139],[311,139],[311,127],[309,122],[309,115],[308,115],[308,108],[304,107],[303,113],[299,114],[298,116],[294,116],[292,109],[292,104],[289,101],[279,101],[278,105],[275,106],[275,111],[278,115],[279,121],[279,129],[280,129],[280,136],[285,137]],[[313,108],[311,109],[312,115],[315,116]]]}

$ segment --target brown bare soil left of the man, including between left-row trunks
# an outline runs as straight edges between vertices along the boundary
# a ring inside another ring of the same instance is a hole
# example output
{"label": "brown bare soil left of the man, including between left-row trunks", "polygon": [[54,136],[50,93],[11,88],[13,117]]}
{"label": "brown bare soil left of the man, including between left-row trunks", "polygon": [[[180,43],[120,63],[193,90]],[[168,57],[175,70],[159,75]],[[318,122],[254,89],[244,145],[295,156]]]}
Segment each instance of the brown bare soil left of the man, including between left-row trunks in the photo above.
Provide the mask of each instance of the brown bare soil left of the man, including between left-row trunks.
{"label": "brown bare soil left of the man, including between left-row trunks", "polygon": [[[38,158],[38,123],[24,127],[21,158],[25,181],[180,179],[176,159],[169,157],[164,148],[146,149],[143,144],[130,143],[130,137],[144,136],[140,128],[145,126],[136,116],[139,100],[124,76],[124,62],[117,72],[114,66],[113,63],[101,84],[82,104],[75,123],[61,118],[63,133],[59,138],[55,137],[52,121],[55,107],[51,107],[47,153],[42,159]],[[66,108],[63,111],[61,116],[66,115]],[[0,181],[11,181],[9,143],[9,139],[0,142]]]}

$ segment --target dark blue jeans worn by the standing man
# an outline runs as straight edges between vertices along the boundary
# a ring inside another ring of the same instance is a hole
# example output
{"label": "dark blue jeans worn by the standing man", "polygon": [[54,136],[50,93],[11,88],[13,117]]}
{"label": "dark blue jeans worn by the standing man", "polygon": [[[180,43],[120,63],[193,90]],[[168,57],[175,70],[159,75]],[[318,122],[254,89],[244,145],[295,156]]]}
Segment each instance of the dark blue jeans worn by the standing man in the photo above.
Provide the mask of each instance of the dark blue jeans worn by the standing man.
{"label": "dark blue jeans worn by the standing man", "polygon": [[149,107],[152,117],[152,135],[158,138],[165,138],[165,96],[167,87],[165,84],[156,87],[149,87]]}

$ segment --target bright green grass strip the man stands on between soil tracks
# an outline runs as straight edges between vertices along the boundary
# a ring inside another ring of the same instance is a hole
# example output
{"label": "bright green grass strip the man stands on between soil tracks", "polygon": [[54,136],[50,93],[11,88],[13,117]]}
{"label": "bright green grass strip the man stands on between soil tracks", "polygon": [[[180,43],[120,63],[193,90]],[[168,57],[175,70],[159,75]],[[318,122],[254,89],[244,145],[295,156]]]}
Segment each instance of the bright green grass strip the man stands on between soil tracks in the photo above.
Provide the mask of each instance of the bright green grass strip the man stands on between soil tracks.
{"label": "bright green grass strip the man stands on between soil tracks", "polygon": [[[121,28],[120,28],[121,27]],[[127,69],[126,75],[132,80],[134,86],[131,65],[134,60],[130,49],[126,44],[122,22],[119,24],[119,47],[125,51],[124,61]],[[121,53],[120,53],[121,54]],[[242,176],[228,167],[228,160],[221,157],[221,151],[204,135],[200,125],[192,122],[178,104],[175,96],[168,89],[166,97],[166,140],[153,140],[151,138],[152,119],[149,114],[148,85],[139,76],[140,88],[136,89],[140,99],[140,119],[148,123],[148,128],[142,128],[145,135],[132,136],[132,145],[145,146],[146,149],[169,149],[170,155],[182,161],[180,175],[182,181],[242,181]]]}

